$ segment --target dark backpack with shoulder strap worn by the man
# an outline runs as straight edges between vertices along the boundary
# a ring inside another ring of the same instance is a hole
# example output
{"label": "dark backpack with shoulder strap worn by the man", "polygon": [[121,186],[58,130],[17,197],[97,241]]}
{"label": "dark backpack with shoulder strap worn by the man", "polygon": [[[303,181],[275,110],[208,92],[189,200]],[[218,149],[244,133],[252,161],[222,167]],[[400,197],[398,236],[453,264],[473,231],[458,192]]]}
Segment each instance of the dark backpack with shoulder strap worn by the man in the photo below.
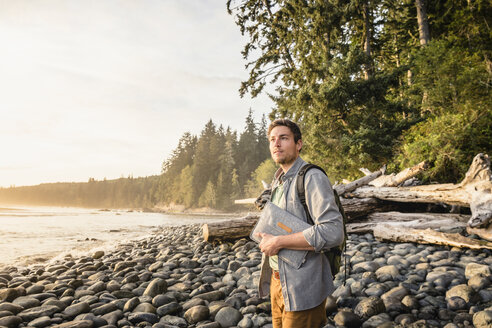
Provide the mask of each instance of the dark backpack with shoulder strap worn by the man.
{"label": "dark backpack with shoulder strap worn by the man", "polygon": [[[297,174],[296,189],[301,204],[304,207],[304,210],[306,211],[308,222],[311,225],[314,225],[313,219],[311,218],[311,214],[309,213],[309,209],[306,204],[306,189],[304,185],[304,177],[306,175],[306,172],[312,168],[316,168],[326,175],[326,172],[321,167],[314,164],[306,164],[299,170],[299,173]],[[345,211],[343,210],[342,203],[340,202],[340,197],[338,196],[338,193],[336,192],[335,189],[333,189],[333,193],[335,195],[335,202],[338,206],[338,210],[340,211],[340,214],[342,215],[343,218],[344,238],[343,238],[343,242],[339,246],[330,248],[330,250],[325,251],[324,254],[328,258],[328,262],[330,263],[331,273],[333,275],[333,278],[335,278],[335,275],[338,272],[340,272],[340,267],[342,263],[342,253],[345,250],[345,245],[347,241],[347,229],[345,227],[345,225],[347,224],[347,216],[345,214]],[[347,261],[345,260],[345,266],[346,265],[347,265]],[[347,268],[345,267],[345,276],[346,275],[347,275]]]}

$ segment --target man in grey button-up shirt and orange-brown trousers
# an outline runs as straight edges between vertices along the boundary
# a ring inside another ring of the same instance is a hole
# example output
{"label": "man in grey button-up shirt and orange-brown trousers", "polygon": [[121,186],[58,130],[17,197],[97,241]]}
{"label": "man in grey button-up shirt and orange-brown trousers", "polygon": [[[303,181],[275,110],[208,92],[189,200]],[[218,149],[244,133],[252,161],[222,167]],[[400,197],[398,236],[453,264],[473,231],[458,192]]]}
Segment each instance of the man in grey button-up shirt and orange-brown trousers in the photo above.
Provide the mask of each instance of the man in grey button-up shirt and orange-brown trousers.
{"label": "man in grey button-up shirt and orange-brown trousers", "polygon": [[[280,168],[274,175],[271,201],[307,221],[295,183],[306,162],[299,157],[301,131],[296,123],[277,119],[268,128],[270,153]],[[259,292],[270,293],[274,328],[318,328],[326,323],[325,301],[333,290],[330,264],[322,251],[343,242],[343,219],[326,175],[318,169],[305,176],[306,203],[314,225],[284,236],[260,233],[263,252]],[[308,250],[296,269],[278,256],[281,249]]]}

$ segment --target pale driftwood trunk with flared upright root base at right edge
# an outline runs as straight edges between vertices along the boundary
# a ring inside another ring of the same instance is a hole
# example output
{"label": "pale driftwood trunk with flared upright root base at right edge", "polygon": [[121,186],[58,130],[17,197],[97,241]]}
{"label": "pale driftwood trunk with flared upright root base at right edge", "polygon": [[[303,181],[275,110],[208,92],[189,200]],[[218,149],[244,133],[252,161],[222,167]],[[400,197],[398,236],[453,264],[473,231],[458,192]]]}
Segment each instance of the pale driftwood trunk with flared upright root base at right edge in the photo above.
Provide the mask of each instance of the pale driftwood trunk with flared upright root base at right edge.
{"label": "pale driftwood trunk with flared upright root base at right edge", "polygon": [[470,206],[471,227],[485,227],[492,219],[492,173],[490,160],[478,154],[460,184],[435,184],[414,187],[362,187],[353,195],[376,197],[397,202],[446,203]]}

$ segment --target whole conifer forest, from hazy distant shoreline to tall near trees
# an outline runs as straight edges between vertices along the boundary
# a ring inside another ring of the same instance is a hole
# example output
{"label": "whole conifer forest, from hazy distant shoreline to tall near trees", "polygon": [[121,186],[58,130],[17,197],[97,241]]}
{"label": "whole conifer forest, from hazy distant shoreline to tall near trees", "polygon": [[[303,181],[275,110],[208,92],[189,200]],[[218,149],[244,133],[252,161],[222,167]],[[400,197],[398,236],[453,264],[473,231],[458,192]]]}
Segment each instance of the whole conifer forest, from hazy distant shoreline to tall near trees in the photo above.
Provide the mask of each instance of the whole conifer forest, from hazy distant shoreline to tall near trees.
{"label": "whole conifer forest, from hazy distant shoreline to tall near trees", "polygon": [[477,153],[492,155],[490,1],[229,0],[224,10],[245,37],[238,96],[268,94],[273,108],[254,110],[269,117],[255,122],[250,110],[239,133],[220,118],[184,133],[160,175],[3,188],[0,199],[232,209],[271,181],[266,131],[283,117],[332,182],[426,160],[422,180],[455,183]]}

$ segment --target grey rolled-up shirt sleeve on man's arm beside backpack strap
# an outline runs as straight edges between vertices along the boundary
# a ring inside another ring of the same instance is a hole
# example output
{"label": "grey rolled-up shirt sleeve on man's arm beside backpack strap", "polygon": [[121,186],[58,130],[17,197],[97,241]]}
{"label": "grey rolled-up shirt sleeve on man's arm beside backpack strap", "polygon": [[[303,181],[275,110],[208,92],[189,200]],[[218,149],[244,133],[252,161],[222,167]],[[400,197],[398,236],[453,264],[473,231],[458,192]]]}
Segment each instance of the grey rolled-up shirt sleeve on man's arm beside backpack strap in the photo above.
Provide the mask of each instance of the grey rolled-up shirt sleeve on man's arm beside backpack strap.
{"label": "grey rolled-up shirt sleeve on man's arm beside backpack strap", "polygon": [[314,225],[302,233],[316,252],[328,250],[343,242],[343,218],[338,210],[328,177],[317,169],[305,177],[306,204]]}

